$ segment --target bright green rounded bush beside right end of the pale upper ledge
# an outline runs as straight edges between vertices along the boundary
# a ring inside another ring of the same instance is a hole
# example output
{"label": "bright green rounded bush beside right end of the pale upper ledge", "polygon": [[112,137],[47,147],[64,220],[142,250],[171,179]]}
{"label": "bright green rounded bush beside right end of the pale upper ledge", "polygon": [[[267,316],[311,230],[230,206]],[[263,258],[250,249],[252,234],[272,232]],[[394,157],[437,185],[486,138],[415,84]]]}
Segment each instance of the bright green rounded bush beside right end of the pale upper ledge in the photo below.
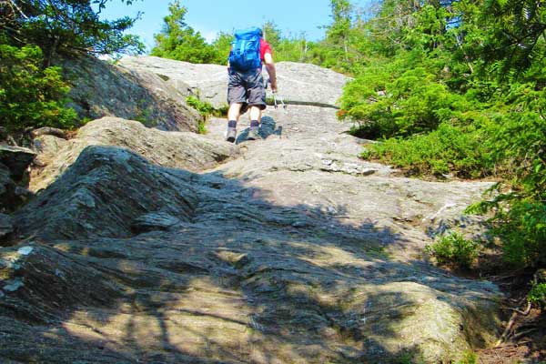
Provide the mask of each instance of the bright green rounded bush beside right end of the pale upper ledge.
{"label": "bright green rounded bush beside right end of the pale upper ledge", "polygon": [[416,56],[419,52],[365,67],[344,88],[340,118],[361,123],[358,134],[372,139],[428,133],[442,122],[471,122],[468,111],[476,109],[475,100],[450,91],[436,75],[438,66],[415,61]]}

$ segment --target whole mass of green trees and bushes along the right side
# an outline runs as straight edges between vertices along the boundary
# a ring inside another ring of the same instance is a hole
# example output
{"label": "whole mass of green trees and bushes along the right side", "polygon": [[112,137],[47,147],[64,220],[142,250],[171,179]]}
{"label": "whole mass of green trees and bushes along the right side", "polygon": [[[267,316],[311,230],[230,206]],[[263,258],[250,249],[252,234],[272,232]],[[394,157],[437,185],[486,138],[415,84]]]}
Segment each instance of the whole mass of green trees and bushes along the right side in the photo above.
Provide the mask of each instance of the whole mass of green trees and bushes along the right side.
{"label": "whole mass of green trees and bushes along the right side", "polygon": [[541,1],[380,2],[353,22],[342,119],[363,153],[412,174],[497,177],[504,257],[546,265],[546,7]]}

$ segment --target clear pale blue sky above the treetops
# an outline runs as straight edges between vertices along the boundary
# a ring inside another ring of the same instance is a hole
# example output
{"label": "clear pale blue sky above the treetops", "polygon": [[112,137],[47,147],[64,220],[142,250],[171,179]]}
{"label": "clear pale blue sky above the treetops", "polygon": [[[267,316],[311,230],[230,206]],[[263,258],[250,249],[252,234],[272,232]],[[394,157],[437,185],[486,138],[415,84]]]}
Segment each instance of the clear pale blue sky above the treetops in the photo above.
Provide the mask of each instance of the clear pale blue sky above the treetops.
{"label": "clear pale blue sky above the treetops", "polygon": [[[163,17],[168,14],[170,0],[136,0],[133,5],[123,5],[114,0],[106,4],[103,18],[112,19],[125,15],[144,13],[130,33],[140,35],[148,50],[154,45],[154,34],[161,31]],[[353,1],[364,6],[367,0]],[[187,7],[186,22],[198,30],[208,41],[220,31],[231,32],[236,28],[262,25],[273,21],[283,35],[299,35],[305,32],[308,39],[324,36],[319,25],[328,25],[329,0],[181,0]]]}

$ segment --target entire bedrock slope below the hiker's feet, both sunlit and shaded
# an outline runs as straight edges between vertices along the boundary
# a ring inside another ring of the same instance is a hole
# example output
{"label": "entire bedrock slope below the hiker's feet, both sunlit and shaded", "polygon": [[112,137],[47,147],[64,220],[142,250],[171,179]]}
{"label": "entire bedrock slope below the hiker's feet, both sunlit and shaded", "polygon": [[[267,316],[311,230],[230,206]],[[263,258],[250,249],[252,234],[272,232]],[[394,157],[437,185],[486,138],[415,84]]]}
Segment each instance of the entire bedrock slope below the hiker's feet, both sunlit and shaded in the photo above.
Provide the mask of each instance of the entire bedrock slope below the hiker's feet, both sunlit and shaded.
{"label": "entire bedrock slope below the hiker's feet, both sunlit and shaded", "polygon": [[174,134],[193,159],[121,119],[41,139],[45,189],[0,248],[0,358],[435,363],[495,339],[498,288],[421,258],[434,231],[480,231],[461,212],[489,184],[359,160],[328,107],[268,107],[263,140],[247,126],[237,147],[224,119]]}

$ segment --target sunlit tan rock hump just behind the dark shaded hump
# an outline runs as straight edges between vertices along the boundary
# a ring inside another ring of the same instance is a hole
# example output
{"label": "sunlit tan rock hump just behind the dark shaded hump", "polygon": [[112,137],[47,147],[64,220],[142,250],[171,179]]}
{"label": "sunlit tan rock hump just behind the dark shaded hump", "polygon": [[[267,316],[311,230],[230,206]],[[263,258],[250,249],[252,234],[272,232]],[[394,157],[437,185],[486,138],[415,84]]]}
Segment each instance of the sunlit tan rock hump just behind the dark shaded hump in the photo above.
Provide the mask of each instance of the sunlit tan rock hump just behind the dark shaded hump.
{"label": "sunlit tan rock hump just behind the dark shaded hump", "polygon": [[38,166],[30,188],[44,189],[88,146],[125,147],[151,162],[192,171],[217,166],[238,155],[238,147],[190,132],[166,132],[118,117],[103,117],[79,129],[75,138],[38,136],[34,140]]}

